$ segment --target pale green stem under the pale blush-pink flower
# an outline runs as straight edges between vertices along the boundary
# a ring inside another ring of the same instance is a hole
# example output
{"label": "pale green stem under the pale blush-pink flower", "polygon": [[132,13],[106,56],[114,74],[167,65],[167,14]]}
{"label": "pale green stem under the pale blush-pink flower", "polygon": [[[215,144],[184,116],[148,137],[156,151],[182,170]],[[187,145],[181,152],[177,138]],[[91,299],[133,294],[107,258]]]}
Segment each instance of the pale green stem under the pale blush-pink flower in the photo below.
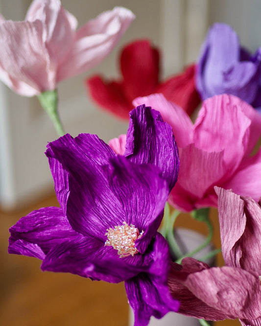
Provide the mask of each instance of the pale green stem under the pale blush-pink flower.
{"label": "pale green stem under the pale blush-pink flower", "polygon": [[62,126],[60,117],[57,111],[58,94],[57,91],[46,91],[38,95],[39,102],[42,108],[47,112],[47,115],[51,119],[57,134],[60,136],[65,135],[64,128]]}

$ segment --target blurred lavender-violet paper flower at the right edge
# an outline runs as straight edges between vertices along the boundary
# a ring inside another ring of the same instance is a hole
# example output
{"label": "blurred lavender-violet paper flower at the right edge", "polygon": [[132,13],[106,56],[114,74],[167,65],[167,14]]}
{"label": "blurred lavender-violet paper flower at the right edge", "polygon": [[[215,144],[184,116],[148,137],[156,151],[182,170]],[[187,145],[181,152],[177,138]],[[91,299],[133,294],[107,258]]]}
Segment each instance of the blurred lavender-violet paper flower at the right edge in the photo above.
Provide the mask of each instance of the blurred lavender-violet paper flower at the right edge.
{"label": "blurred lavender-violet paper flower at the right edge", "polygon": [[240,47],[236,32],[214,24],[201,47],[196,87],[205,100],[216,94],[234,94],[254,107],[261,106],[261,48],[254,55]]}

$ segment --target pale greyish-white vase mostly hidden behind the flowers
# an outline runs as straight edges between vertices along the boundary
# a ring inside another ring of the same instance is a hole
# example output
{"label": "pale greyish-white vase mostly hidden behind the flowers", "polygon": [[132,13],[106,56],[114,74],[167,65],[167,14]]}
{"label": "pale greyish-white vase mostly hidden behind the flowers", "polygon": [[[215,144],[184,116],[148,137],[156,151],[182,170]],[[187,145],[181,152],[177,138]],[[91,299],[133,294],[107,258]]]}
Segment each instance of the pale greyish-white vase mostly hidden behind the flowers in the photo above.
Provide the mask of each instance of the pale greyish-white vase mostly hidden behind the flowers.
{"label": "pale greyish-white vase mostly hidden behind the flowers", "polygon": [[[199,247],[206,239],[206,237],[201,233],[185,228],[175,229],[175,238],[178,244],[180,245],[184,255]],[[213,250],[213,245],[209,244],[200,252],[195,254],[193,258],[199,259],[202,256],[205,256],[208,253],[210,253],[212,250]],[[204,261],[210,266],[214,265],[214,257]],[[134,315],[132,309],[130,308],[129,326],[133,326],[133,325],[134,325]],[[200,326],[200,323],[196,318],[186,317],[175,312],[169,312],[162,319],[151,317],[148,326]]]}

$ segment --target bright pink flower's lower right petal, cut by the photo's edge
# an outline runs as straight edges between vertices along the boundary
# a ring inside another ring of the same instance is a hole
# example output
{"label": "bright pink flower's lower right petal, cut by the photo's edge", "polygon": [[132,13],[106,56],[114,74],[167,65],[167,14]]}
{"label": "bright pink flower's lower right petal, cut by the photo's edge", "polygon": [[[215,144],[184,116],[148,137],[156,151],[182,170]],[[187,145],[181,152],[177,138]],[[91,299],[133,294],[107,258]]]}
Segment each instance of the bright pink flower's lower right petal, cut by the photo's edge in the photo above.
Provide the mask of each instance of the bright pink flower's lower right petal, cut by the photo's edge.
{"label": "bright pink flower's lower right petal, cut by the photo's edge", "polygon": [[255,156],[243,160],[234,176],[222,187],[258,202],[261,197],[261,150]]}

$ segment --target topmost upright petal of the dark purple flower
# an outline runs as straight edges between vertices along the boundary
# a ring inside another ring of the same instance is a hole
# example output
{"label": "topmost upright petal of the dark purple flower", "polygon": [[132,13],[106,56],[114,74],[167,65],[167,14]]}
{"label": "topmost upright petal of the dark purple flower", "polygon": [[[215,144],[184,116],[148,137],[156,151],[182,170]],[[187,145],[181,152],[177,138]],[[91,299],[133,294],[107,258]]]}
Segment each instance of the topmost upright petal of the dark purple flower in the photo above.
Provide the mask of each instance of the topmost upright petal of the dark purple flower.
{"label": "topmost upright petal of the dark purple flower", "polygon": [[178,147],[171,127],[163,122],[159,112],[144,104],[131,111],[124,155],[131,162],[158,166],[169,191],[175,185],[179,172]]}

